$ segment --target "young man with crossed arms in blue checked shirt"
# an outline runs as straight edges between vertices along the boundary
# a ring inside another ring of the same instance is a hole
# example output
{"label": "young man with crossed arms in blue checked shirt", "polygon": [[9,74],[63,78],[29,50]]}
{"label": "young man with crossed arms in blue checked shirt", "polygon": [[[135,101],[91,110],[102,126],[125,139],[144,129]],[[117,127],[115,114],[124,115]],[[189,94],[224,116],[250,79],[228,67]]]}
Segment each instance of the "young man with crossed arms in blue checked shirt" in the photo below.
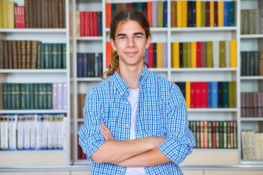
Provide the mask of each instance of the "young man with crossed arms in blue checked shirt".
{"label": "young man with crossed arms in blue checked shirt", "polygon": [[180,89],[145,64],[149,22],[138,10],[123,10],[110,39],[107,78],[88,92],[78,132],[91,174],[182,174],[178,165],[194,138]]}

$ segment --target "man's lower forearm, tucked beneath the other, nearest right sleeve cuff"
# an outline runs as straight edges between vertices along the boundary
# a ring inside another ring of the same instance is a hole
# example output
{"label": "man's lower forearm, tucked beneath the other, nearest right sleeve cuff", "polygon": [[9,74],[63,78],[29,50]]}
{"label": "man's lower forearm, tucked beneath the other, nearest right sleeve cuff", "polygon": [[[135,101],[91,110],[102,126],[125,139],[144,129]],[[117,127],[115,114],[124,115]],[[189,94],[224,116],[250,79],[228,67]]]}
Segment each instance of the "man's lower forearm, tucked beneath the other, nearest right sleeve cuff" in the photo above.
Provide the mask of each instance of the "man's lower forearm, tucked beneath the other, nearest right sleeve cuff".
{"label": "man's lower forearm, tucked beneath the other, nearest right sleeve cuff", "polygon": [[154,148],[117,163],[117,165],[122,167],[142,167],[156,166],[169,162],[171,162],[171,160],[168,157],[166,157],[158,148]]}

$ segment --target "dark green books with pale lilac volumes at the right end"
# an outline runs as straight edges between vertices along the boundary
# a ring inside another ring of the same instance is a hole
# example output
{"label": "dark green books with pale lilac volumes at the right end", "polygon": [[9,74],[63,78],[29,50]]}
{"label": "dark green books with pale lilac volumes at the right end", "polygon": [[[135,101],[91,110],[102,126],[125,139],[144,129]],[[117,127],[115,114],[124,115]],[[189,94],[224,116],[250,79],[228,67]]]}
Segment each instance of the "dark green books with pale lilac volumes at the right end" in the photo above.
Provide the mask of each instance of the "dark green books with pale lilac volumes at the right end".
{"label": "dark green books with pale lilac volumes at the right end", "polygon": [[67,83],[3,83],[3,103],[4,109],[67,109]]}

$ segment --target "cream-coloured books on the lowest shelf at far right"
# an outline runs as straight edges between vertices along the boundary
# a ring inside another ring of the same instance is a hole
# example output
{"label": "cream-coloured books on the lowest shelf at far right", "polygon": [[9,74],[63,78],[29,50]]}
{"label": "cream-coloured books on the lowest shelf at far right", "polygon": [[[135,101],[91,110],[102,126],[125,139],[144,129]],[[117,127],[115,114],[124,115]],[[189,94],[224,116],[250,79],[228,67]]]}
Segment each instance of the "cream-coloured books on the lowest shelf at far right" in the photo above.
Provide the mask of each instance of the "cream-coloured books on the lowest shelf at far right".
{"label": "cream-coloured books on the lowest shelf at far right", "polygon": [[241,131],[242,159],[263,159],[263,133]]}

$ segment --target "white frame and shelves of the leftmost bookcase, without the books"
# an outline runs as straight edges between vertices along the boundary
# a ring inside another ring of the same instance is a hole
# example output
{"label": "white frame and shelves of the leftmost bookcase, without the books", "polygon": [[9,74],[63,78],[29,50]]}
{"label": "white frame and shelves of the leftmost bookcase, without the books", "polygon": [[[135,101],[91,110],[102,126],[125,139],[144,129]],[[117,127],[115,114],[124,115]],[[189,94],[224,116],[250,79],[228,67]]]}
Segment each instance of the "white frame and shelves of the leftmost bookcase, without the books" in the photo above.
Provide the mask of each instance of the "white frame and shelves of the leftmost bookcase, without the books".
{"label": "white frame and shelves of the leftmost bookcase, without the books", "polygon": [[[24,5],[24,0],[12,0]],[[44,43],[66,43],[66,69],[0,69],[1,83],[67,84],[67,109],[0,110],[1,114],[63,113],[67,117],[64,149],[0,151],[0,167],[70,165],[70,3],[65,0],[66,28],[0,28],[0,39],[39,40]],[[40,158],[41,157],[41,158]]]}

